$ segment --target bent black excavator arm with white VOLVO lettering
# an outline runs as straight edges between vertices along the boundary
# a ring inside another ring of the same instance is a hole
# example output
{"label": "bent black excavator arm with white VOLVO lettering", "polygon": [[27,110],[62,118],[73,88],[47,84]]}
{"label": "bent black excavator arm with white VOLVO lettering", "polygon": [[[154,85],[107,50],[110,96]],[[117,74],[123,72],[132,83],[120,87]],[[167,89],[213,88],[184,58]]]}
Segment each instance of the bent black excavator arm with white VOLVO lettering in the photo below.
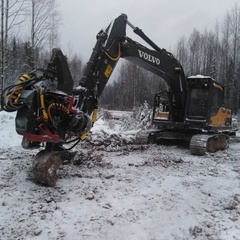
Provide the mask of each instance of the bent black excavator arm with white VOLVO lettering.
{"label": "bent black excavator arm with white VOLVO lettering", "polygon": [[[152,49],[126,36],[126,27],[130,26]],[[134,27],[127,15],[121,14],[109,26],[97,34],[97,42],[93,48],[86,70],[74,90],[79,94],[79,104],[83,111],[91,111],[96,107],[97,99],[105,88],[120,58],[129,60],[162,77],[169,86],[171,98],[171,115],[176,121],[183,121],[186,102],[186,79],[181,64],[170,52],[158,47],[141,29]],[[84,90],[91,91],[84,97]],[[91,90],[90,90],[91,89]],[[173,103],[174,101],[174,103]],[[84,104],[83,104],[84,102]],[[174,105],[174,107],[172,107]]]}

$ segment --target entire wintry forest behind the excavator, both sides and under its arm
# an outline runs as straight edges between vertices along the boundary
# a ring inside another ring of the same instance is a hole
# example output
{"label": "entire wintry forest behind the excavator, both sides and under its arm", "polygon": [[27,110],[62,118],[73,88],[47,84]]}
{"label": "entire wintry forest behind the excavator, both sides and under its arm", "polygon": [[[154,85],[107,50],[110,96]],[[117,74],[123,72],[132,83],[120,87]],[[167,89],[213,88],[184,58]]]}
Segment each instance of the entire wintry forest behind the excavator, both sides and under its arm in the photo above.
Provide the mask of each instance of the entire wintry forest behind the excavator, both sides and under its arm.
{"label": "entire wintry forest behind the excavator, both sides and under its arm", "polygon": [[[44,67],[52,48],[59,47],[58,4],[58,0],[1,0],[1,87],[16,82],[31,69]],[[203,32],[193,29],[190,36],[182,36],[172,53],[186,76],[207,75],[223,83],[225,106],[237,113],[240,109],[239,6],[236,4],[223,17],[214,29],[206,28]],[[85,63],[77,54],[67,57],[77,84]],[[116,71],[100,98],[101,107],[132,110],[144,102],[152,105],[154,94],[166,87],[160,77],[125,60]]]}

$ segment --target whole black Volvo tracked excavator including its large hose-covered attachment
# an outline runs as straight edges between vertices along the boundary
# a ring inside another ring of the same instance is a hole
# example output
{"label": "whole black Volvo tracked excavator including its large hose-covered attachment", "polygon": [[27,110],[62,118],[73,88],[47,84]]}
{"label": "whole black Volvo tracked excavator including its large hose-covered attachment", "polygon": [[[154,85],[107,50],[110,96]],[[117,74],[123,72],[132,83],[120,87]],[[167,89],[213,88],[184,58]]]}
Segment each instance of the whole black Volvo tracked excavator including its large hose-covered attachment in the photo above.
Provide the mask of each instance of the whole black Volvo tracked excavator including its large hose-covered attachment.
{"label": "whole black Volvo tracked excavator including its large hose-covered attachment", "polygon": [[[126,27],[149,46],[126,36]],[[228,147],[231,110],[224,108],[224,86],[209,76],[186,78],[181,64],[159,48],[126,14],[100,30],[77,87],[67,59],[55,48],[45,69],[24,74],[2,92],[2,109],[17,111],[16,131],[25,149],[44,148],[33,159],[36,182],[54,186],[63,159],[82,141],[96,121],[98,100],[120,58],[158,75],[166,89],[154,96],[152,123],[147,141],[183,139],[192,154],[202,155]]]}

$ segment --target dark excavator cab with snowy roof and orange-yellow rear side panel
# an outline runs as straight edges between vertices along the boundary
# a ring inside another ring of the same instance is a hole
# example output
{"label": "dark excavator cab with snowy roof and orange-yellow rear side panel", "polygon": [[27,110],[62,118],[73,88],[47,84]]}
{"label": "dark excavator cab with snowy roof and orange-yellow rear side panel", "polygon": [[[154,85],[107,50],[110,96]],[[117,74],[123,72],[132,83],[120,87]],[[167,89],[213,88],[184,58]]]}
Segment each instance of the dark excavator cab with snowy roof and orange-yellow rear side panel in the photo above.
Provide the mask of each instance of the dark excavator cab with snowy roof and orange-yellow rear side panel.
{"label": "dark excavator cab with snowy roof and orange-yellow rear side panel", "polygon": [[187,78],[185,124],[205,130],[231,128],[231,110],[223,107],[224,87],[211,77]]}

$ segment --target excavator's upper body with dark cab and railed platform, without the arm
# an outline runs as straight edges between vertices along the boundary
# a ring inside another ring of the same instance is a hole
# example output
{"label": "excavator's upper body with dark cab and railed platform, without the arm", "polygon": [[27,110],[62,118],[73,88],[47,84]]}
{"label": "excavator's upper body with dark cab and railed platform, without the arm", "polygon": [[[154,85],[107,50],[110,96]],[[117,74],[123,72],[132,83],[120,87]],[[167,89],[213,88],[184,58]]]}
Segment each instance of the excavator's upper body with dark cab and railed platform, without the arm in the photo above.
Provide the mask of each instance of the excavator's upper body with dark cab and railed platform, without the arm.
{"label": "excavator's upper body with dark cab and railed platform, without the arm", "polygon": [[[184,119],[176,121],[176,104],[172,92],[158,92],[154,98],[153,123],[160,128],[223,131],[231,129],[231,110],[223,107],[224,87],[208,76],[186,79]],[[181,113],[179,114],[181,115]]]}

